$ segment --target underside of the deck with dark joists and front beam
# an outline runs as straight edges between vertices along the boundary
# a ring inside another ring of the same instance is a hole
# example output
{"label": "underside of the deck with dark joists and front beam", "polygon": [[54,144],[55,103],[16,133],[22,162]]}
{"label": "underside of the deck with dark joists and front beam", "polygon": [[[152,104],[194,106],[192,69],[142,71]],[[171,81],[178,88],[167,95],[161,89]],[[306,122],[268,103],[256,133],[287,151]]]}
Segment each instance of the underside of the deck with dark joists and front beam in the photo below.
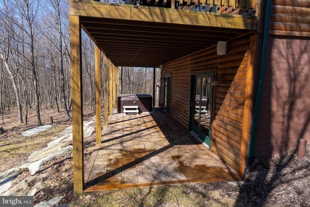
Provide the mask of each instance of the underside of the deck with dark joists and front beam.
{"label": "underside of the deck with dark joists and front beam", "polygon": [[117,66],[157,67],[255,30],[257,21],[158,7],[69,4],[70,15],[80,16],[82,29]]}

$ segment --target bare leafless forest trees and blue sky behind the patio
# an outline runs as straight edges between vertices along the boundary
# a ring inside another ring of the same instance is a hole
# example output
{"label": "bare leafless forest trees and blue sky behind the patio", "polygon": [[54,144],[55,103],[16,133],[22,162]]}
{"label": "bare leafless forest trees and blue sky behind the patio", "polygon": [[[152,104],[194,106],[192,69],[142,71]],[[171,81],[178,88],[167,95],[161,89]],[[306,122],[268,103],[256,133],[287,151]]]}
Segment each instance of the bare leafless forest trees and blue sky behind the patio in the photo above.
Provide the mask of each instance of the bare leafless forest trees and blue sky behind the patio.
{"label": "bare leafless forest trees and blue sky behind the patio", "polygon": [[[103,60],[102,54],[102,74]],[[0,114],[16,113],[27,124],[28,110],[35,109],[42,125],[40,110],[53,108],[70,119],[70,62],[68,0],[0,0]],[[118,67],[118,94],[153,95],[153,70]],[[83,103],[94,113],[94,43],[84,32],[82,71]]]}

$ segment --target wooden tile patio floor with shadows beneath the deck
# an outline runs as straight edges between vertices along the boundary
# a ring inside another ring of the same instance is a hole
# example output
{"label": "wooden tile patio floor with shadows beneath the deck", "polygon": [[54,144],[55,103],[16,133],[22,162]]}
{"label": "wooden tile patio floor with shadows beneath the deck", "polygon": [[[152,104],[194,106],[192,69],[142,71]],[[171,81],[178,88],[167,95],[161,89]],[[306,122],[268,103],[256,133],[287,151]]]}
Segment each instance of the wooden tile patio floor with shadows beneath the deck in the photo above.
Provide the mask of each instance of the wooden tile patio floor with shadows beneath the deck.
{"label": "wooden tile patio floor with shadows beneath the deck", "polygon": [[113,113],[85,167],[85,190],[240,179],[167,113]]}

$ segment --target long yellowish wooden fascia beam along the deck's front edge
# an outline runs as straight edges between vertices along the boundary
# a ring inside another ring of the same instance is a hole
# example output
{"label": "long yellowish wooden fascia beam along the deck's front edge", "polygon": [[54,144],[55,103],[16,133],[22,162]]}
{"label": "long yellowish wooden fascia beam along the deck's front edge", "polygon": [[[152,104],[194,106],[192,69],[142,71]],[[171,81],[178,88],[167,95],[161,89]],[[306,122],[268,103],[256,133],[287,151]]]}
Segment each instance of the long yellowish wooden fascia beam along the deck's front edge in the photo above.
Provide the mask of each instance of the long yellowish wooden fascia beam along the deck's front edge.
{"label": "long yellowish wooden fascia beam along the deck's front edge", "polygon": [[191,12],[158,7],[107,5],[69,2],[69,14],[99,18],[125,19],[167,24],[197,25],[244,30],[256,30],[257,18],[240,15],[220,15],[208,12]]}

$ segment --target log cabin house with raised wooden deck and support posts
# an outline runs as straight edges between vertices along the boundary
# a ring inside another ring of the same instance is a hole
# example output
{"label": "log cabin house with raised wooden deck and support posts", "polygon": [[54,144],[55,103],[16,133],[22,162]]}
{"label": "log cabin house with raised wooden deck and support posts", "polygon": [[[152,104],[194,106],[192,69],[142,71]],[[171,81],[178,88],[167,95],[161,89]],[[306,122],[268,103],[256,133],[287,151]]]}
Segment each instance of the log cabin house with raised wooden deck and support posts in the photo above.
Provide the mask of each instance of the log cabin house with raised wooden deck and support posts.
{"label": "log cabin house with raised wooden deck and support posts", "polygon": [[75,194],[84,188],[81,29],[96,45],[96,111],[103,52],[113,102],[105,109],[116,106],[107,85],[116,88],[108,77],[117,66],[158,68],[160,107],[241,177],[254,157],[310,141],[308,0],[69,0],[69,8]]}

